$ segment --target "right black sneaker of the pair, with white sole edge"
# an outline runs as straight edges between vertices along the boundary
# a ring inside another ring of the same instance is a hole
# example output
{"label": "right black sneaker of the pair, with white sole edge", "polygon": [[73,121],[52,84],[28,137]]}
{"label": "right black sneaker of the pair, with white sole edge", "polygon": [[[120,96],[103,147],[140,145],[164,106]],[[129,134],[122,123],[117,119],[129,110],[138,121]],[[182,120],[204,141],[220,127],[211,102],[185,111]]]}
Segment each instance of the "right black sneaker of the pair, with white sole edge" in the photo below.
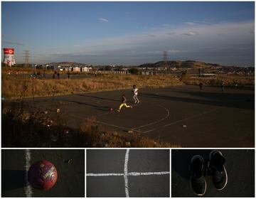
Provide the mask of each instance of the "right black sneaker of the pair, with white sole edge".
{"label": "right black sneaker of the pair, with white sole edge", "polygon": [[225,158],[218,150],[210,152],[210,161],[208,168],[213,176],[213,185],[217,190],[223,190],[228,183],[228,174],[224,166]]}

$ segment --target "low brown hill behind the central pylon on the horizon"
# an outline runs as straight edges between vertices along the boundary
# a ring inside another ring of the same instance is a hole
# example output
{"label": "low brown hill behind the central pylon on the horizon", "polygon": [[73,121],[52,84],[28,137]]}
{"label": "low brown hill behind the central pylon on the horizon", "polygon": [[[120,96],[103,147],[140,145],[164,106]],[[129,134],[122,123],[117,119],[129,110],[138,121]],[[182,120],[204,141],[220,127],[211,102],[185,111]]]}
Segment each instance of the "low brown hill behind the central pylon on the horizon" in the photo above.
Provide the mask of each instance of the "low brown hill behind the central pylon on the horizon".
{"label": "low brown hill behind the central pylon on the horizon", "polygon": [[[164,61],[160,61],[157,63],[144,63],[142,65],[139,65],[139,68],[159,68],[163,67]],[[213,63],[203,63],[203,62],[197,62],[193,60],[186,60],[186,61],[167,61],[167,67],[169,68],[211,68],[211,67],[217,67],[217,68],[223,68],[222,65],[213,64]]]}

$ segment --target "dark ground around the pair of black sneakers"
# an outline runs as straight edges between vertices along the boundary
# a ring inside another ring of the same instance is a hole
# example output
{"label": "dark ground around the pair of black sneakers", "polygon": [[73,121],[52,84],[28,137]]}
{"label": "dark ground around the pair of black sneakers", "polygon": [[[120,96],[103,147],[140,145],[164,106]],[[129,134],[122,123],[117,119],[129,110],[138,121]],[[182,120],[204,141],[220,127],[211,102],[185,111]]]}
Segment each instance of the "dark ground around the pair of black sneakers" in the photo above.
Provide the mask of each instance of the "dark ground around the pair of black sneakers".
{"label": "dark ground around the pair of black sneakers", "polygon": [[[191,173],[188,169],[194,155],[209,160],[212,150],[183,149],[171,150],[171,196],[197,197],[190,185]],[[226,159],[225,168],[228,183],[223,190],[216,190],[211,176],[206,177],[205,197],[254,197],[255,196],[255,151],[249,149],[220,149]]]}

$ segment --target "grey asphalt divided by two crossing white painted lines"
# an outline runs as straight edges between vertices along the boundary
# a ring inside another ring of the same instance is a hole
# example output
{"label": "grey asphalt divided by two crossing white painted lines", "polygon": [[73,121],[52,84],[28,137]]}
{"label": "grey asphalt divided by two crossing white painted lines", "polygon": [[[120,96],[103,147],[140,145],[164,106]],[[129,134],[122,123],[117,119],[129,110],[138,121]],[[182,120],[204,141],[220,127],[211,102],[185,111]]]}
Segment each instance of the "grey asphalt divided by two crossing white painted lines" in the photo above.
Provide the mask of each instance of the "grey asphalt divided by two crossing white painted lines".
{"label": "grey asphalt divided by two crossing white painted lines", "polygon": [[[124,173],[125,149],[87,149],[88,173]],[[127,171],[170,171],[169,150],[130,149]],[[170,174],[127,176],[129,197],[169,197]],[[87,197],[126,197],[124,176],[87,176]]]}

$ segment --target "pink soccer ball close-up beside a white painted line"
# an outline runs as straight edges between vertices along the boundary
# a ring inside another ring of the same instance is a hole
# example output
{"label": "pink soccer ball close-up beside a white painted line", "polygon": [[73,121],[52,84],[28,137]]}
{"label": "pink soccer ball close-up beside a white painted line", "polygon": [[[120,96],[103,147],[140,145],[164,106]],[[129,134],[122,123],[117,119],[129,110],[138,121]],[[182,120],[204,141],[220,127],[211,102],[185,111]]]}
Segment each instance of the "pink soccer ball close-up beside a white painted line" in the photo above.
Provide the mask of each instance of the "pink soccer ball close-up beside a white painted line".
{"label": "pink soccer ball close-up beside a white painted line", "polygon": [[58,173],[49,161],[37,161],[28,169],[28,182],[33,188],[48,190],[55,185]]}

